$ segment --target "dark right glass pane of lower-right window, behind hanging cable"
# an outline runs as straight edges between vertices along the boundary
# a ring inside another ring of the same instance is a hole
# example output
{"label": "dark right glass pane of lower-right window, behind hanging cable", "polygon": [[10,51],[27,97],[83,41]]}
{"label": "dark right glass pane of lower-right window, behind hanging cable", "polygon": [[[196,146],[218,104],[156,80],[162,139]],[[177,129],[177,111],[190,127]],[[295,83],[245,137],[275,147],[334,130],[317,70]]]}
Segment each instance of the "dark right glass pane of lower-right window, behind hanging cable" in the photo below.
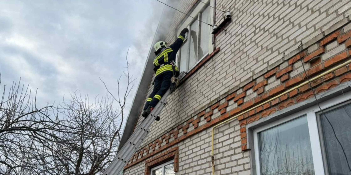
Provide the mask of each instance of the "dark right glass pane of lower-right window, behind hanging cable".
{"label": "dark right glass pane of lower-right window, behind hanging cable", "polygon": [[325,116],[322,114],[321,123],[329,175],[351,175],[351,105],[326,112]]}

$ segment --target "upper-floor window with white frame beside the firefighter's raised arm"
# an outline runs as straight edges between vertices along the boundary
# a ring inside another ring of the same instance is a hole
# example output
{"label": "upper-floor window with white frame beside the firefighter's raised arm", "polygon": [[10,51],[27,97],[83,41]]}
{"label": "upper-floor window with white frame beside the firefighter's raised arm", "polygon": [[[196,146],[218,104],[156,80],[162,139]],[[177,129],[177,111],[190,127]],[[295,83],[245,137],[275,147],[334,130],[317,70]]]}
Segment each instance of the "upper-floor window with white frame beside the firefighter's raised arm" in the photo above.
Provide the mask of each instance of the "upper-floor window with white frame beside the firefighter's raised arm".
{"label": "upper-floor window with white frame beside the firefighter's raised arm", "polygon": [[[207,2],[207,4],[209,3],[210,1]],[[178,52],[179,69],[180,71],[186,72],[192,69],[201,59],[208,55],[211,51],[212,45],[210,42],[212,36],[211,27],[203,23],[211,23],[211,8],[204,3],[199,3],[193,13],[191,13],[191,16],[196,19],[188,17],[180,27],[180,30],[183,28],[189,29],[189,32],[185,36],[183,45]]]}

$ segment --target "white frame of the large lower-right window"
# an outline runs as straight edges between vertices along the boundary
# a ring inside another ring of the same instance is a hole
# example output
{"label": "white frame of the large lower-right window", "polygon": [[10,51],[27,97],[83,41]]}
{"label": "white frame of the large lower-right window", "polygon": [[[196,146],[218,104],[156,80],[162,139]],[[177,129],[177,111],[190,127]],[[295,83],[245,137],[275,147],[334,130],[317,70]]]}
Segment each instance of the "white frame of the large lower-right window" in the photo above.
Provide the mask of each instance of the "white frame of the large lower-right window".
{"label": "white frame of the large lower-right window", "polygon": [[[351,92],[347,92],[335,98],[326,100],[325,102],[319,103],[319,105],[325,112],[350,103],[351,103]],[[321,113],[321,111],[318,105],[314,105],[312,107],[309,107],[305,110],[298,111],[282,119],[273,121],[272,123],[269,123],[267,125],[260,126],[258,128],[253,129],[253,147],[254,147],[253,156],[255,161],[253,163],[256,168],[256,171],[254,173],[256,173],[256,175],[261,174],[258,133],[306,115],[309,134],[310,134],[310,143],[312,148],[314,173],[316,175],[329,175],[327,172],[328,167],[325,159],[325,152],[324,152],[325,150],[323,147],[324,142],[323,142],[323,139],[321,138],[322,130],[320,129],[322,128],[320,126],[320,121],[318,121],[320,120],[319,113]]]}

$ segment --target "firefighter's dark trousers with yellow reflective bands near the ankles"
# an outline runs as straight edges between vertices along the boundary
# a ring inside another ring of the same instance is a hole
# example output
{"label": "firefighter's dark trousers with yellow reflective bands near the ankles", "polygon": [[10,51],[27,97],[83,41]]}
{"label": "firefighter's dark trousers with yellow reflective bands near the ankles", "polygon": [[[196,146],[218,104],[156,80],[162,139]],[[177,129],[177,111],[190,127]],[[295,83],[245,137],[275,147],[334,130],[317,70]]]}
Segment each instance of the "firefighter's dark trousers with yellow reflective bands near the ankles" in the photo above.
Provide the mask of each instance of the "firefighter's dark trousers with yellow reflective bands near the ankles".
{"label": "firefighter's dark trousers with yellow reflective bands near the ankles", "polygon": [[146,110],[149,105],[151,107],[155,107],[157,105],[162,96],[167,92],[168,88],[170,88],[172,76],[173,71],[165,71],[155,77],[154,88],[146,101],[144,110]]}

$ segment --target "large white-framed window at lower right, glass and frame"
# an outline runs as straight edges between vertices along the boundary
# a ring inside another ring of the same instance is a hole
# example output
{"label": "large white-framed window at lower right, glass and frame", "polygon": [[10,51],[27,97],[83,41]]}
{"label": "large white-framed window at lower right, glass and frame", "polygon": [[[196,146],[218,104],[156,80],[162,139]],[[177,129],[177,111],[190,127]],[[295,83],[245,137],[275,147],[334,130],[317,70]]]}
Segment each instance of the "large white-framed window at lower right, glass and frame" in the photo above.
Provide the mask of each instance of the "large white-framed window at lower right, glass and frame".
{"label": "large white-framed window at lower right, glass and frame", "polygon": [[320,103],[324,114],[316,105],[255,128],[256,175],[351,175],[350,99],[347,92]]}

